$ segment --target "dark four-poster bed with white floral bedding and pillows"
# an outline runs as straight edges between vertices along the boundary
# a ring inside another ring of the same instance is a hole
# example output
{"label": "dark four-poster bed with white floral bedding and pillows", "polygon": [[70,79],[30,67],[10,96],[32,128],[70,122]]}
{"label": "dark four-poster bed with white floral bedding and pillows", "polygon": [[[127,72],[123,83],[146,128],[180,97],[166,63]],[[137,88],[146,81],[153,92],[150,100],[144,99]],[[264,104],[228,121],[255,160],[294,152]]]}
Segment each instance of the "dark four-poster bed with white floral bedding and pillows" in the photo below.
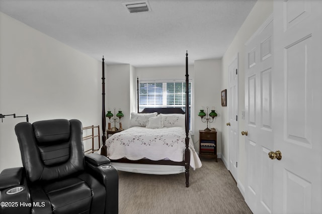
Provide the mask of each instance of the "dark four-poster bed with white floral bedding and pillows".
{"label": "dark four-poster bed with white floral bedding and pillows", "polygon": [[[120,171],[144,174],[185,173],[201,167],[189,135],[189,114],[181,108],[145,108],[131,113],[130,128],[106,140],[104,57],[102,62],[102,129],[100,153]],[[138,80],[137,80],[138,83]],[[186,53],[186,110],[189,110],[188,52]],[[139,97],[139,89],[137,88]]]}

